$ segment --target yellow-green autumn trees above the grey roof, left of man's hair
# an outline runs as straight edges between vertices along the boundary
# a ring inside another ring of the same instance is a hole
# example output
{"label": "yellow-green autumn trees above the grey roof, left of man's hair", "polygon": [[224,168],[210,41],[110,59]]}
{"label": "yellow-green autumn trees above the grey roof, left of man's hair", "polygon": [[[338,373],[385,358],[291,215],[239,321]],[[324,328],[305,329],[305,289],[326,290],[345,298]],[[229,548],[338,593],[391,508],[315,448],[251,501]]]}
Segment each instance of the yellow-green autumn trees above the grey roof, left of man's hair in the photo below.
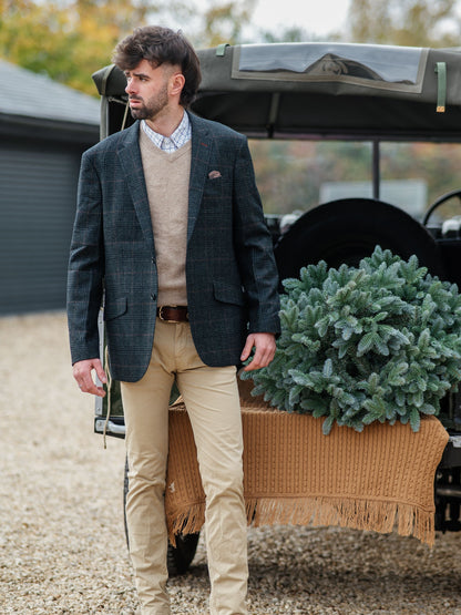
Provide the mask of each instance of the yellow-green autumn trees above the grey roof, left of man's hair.
{"label": "yellow-green autumn trees above the grey roof, left of man's hair", "polygon": [[0,0],[0,57],[93,94],[91,74],[156,8],[144,0]]}

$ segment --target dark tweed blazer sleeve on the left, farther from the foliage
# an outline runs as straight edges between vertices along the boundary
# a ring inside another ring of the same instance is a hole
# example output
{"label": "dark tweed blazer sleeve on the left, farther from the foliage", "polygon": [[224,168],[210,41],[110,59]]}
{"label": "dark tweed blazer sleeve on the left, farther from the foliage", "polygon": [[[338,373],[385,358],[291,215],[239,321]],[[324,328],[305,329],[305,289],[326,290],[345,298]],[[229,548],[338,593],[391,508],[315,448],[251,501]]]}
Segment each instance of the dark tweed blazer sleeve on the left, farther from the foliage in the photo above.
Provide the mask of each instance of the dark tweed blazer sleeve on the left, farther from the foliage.
{"label": "dark tweed blazer sleeve on the left, farther from the foliage", "polygon": [[68,270],[68,326],[72,365],[100,356],[98,315],[104,257],[101,181],[91,150],[82,156]]}

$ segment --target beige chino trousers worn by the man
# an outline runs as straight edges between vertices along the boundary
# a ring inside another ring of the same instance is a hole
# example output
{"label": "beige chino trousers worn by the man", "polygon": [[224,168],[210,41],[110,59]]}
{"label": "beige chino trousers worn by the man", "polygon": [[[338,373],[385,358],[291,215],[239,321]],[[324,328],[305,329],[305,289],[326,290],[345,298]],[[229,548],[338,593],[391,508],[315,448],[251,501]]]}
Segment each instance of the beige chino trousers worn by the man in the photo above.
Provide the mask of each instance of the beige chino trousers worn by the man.
{"label": "beige chino trousers worn by the man", "polygon": [[206,494],[209,612],[246,614],[246,514],[236,368],[206,366],[196,352],[189,325],[158,318],[146,373],[137,382],[121,383],[130,483],[126,520],[142,614],[170,614],[164,491],[174,378],[191,419]]}

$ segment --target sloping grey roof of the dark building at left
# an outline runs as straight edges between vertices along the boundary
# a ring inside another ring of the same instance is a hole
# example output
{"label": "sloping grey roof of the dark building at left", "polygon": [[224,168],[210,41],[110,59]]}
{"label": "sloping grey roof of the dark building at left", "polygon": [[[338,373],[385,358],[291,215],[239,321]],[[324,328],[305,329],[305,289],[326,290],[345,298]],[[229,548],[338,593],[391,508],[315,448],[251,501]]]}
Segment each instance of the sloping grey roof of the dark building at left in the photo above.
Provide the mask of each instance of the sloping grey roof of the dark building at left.
{"label": "sloping grey roof of the dark building at left", "polygon": [[100,123],[100,103],[43,74],[0,59],[0,115],[18,115],[54,122]]}

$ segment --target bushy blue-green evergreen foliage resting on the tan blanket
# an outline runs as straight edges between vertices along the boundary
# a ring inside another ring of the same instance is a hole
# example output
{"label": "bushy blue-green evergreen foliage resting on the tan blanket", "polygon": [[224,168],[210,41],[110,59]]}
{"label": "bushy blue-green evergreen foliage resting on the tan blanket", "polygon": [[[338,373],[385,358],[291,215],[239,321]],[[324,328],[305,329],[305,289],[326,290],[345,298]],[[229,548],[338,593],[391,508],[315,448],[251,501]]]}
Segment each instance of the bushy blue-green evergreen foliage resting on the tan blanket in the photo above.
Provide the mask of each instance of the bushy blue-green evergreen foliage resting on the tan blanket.
{"label": "bushy blue-green evergreen foliage resting on the tan blanket", "polygon": [[253,394],[288,412],[361,431],[399,420],[419,430],[461,380],[461,295],[379,246],[359,267],[309,265],[284,281],[281,335]]}

